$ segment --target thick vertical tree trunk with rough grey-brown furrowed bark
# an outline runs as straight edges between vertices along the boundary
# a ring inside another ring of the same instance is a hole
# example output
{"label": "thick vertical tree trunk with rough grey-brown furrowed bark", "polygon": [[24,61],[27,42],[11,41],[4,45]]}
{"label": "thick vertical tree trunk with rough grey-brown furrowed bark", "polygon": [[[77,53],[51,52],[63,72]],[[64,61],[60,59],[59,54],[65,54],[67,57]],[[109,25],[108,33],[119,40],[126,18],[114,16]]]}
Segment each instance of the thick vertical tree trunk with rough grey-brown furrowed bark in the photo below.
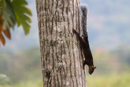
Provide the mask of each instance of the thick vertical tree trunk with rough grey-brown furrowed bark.
{"label": "thick vertical tree trunk with rough grey-brown furrowed bark", "polygon": [[80,0],[36,0],[43,87],[86,87],[81,49]]}

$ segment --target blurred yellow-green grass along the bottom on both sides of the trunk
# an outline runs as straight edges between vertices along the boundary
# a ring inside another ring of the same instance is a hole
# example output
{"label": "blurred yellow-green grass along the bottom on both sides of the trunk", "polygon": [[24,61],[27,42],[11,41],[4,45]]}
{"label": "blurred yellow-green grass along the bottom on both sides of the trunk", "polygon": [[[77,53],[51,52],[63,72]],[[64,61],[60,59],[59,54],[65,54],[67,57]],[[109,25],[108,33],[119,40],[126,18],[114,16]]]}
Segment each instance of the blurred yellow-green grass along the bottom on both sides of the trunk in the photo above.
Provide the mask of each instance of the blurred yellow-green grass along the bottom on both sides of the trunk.
{"label": "blurred yellow-green grass along the bottom on both sides of the trunk", "polygon": [[[42,87],[42,79],[20,82],[14,87]],[[130,73],[108,74],[108,75],[88,75],[87,87],[129,87]]]}

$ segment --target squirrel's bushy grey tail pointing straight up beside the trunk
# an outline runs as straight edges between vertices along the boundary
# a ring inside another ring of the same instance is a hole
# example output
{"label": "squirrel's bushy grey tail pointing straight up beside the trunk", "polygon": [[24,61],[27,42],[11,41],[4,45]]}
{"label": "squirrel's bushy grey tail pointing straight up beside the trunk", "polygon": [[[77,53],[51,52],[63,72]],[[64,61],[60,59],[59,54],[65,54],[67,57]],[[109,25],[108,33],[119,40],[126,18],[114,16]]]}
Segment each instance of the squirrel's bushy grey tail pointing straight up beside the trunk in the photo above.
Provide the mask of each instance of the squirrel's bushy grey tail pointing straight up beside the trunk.
{"label": "squirrel's bushy grey tail pointing straight up beside the trunk", "polygon": [[81,16],[81,25],[83,31],[83,37],[88,37],[87,33],[87,5],[80,5],[82,16]]}

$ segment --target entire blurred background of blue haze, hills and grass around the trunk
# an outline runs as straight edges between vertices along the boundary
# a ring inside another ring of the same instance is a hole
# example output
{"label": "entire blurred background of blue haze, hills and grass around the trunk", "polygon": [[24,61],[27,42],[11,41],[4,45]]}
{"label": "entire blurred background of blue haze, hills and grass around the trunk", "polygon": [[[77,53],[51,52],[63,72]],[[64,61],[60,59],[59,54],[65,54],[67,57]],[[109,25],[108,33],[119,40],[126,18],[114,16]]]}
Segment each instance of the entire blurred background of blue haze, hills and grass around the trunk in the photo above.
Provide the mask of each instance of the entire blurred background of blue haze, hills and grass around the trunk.
{"label": "entire blurred background of blue haze, hills and grass around the trunk", "polygon": [[[25,36],[22,27],[11,31],[11,41],[0,48],[0,73],[16,87],[39,87],[42,78],[36,6],[35,0],[27,1],[33,13],[30,33]],[[97,66],[93,75],[87,75],[88,87],[129,87],[130,1],[82,3],[88,4],[89,41]]]}

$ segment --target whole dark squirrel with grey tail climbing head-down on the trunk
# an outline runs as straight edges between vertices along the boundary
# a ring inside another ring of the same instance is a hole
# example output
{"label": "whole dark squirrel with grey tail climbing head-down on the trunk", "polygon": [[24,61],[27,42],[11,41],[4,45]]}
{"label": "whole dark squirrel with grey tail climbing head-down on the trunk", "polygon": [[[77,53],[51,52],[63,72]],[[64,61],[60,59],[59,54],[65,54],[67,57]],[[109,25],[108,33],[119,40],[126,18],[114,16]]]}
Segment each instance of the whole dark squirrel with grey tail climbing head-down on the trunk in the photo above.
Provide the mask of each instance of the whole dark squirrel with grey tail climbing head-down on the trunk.
{"label": "whole dark squirrel with grey tail climbing head-down on the trunk", "polygon": [[93,64],[93,56],[90,50],[89,41],[88,41],[88,33],[87,33],[87,6],[86,5],[80,5],[82,16],[81,16],[81,25],[83,30],[82,37],[79,35],[79,33],[73,29],[73,33],[76,35],[77,39],[80,42],[80,46],[82,48],[82,53],[84,56],[83,61],[83,69],[85,65],[88,65],[88,72],[89,74],[92,74],[94,69],[96,68]]}

